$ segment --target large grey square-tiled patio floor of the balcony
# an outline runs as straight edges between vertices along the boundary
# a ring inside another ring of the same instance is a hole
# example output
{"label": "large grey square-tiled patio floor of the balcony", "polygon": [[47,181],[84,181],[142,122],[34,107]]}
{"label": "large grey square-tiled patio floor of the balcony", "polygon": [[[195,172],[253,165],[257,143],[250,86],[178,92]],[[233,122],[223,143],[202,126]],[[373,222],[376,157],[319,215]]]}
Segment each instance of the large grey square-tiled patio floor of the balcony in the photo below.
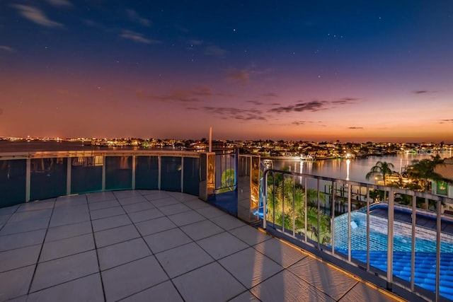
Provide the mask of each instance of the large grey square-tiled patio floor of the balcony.
{"label": "large grey square-tiled patio floor of the balcony", "polygon": [[0,209],[0,301],[393,301],[177,192]]}

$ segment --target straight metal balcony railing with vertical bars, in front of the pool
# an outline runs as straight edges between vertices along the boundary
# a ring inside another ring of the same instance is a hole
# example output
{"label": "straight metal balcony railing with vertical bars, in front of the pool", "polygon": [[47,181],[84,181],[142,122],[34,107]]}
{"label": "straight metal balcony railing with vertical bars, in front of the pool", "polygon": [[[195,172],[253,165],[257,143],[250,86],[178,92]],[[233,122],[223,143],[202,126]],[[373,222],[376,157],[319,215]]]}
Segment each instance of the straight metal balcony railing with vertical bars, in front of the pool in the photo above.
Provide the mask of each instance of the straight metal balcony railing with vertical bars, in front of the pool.
{"label": "straight metal balcony railing with vertical bars, in front of the pool", "polygon": [[453,299],[453,217],[442,214],[452,199],[281,170],[263,172],[262,191],[268,231],[377,275],[389,290]]}

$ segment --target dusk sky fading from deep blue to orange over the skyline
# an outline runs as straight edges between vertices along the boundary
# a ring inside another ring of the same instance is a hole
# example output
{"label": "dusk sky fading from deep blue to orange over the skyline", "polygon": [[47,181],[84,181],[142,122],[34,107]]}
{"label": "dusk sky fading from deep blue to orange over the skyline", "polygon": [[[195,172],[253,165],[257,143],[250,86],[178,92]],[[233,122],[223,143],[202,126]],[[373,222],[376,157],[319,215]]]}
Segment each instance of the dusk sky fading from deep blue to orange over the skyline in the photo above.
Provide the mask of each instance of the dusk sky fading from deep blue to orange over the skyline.
{"label": "dusk sky fading from deep blue to orange over the skyline", "polygon": [[0,137],[209,127],[453,143],[453,1],[0,1]]}

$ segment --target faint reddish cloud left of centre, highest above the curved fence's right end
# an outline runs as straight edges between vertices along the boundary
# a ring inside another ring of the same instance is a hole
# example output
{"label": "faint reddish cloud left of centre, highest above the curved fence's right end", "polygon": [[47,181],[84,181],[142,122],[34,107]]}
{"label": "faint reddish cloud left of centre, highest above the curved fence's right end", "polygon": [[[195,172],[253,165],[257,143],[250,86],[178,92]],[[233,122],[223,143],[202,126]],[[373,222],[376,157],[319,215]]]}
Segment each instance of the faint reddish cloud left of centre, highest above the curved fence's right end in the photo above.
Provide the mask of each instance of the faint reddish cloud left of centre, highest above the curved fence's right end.
{"label": "faint reddish cloud left of centre, highest above the curved fence's right end", "polygon": [[166,95],[153,95],[151,93],[145,93],[142,90],[135,92],[139,98],[145,98],[147,100],[158,100],[158,101],[171,101],[178,103],[198,103],[202,102],[206,98],[213,96],[227,96],[226,93],[218,93],[213,91],[207,86],[196,86],[188,89],[176,89]]}

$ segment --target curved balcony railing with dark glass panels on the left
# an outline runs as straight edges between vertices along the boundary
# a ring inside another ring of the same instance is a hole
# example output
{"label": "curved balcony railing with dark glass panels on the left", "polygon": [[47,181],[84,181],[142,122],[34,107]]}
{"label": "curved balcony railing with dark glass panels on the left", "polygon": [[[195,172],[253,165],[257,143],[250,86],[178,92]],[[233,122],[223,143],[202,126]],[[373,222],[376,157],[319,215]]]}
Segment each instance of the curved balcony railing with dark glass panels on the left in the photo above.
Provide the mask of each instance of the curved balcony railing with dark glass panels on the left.
{"label": "curved balcony railing with dark glass panels on the left", "polygon": [[198,195],[200,154],[178,151],[56,151],[0,154],[0,207],[108,190]]}

